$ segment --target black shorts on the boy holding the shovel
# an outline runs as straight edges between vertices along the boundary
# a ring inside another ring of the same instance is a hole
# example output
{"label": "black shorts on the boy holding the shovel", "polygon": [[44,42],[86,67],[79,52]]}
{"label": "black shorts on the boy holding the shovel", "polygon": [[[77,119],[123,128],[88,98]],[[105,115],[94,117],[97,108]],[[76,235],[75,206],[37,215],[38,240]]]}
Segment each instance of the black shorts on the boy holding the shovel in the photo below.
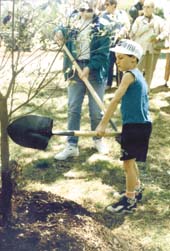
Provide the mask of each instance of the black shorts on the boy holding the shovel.
{"label": "black shorts on the boy holding the shovel", "polygon": [[136,159],[145,162],[151,131],[152,123],[123,125],[120,160]]}

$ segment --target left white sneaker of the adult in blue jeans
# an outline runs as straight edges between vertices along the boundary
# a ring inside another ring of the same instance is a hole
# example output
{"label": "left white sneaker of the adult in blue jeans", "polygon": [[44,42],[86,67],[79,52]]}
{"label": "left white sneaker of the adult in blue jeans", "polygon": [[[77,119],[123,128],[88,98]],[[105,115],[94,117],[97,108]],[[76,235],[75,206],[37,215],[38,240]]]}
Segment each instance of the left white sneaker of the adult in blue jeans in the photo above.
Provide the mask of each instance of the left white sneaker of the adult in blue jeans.
{"label": "left white sneaker of the adult in blue jeans", "polygon": [[79,149],[77,146],[67,145],[66,148],[55,155],[56,160],[66,160],[69,157],[79,156]]}

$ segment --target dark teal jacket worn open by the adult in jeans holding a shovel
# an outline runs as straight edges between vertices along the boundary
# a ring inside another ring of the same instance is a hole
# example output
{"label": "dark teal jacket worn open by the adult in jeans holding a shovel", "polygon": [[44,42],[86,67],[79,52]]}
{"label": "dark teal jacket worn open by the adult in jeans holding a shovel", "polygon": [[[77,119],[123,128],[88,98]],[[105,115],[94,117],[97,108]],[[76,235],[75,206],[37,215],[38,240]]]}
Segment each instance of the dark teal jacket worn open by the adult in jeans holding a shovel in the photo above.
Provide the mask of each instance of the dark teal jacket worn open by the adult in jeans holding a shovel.
{"label": "dark teal jacket worn open by the adult in jeans holding a shovel", "polygon": [[[92,23],[90,60],[87,66],[90,68],[91,72],[94,72],[97,81],[99,83],[104,83],[107,81],[108,75],[110,39],[107,31],[104,29],[104,26],[100,23],[99,17],[94,16]],[[69,26],[61,26],[55,29],[55,31],[58,30],[62,31],[66,40],[66,46],[76,59],[75,40],[79,31],[76,29],[71,29]],[[63,71],[65,79],[68,79],[70,76],[72,76],[72,63],[66,54],[64,54]]]}

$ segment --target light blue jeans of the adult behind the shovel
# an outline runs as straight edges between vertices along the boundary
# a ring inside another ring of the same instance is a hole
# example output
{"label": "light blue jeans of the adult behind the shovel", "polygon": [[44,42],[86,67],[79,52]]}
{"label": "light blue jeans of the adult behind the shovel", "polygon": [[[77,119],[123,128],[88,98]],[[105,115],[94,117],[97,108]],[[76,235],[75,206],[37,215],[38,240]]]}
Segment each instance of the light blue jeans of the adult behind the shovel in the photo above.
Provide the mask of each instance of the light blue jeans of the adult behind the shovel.
{"label": "light blue jeans of the adult behind the shovel", "polygon": [[[89,77],[89,81],[98,96],[103,100],[105,84],[97,83],[92,73]],[[68,130],[80,130],[81,110],[86,93],[89,99],[91,130],[96,129],[102,118],[102,112],[92,95],[89,93],[86,85],[77,75],[75,75],[68,86]],[[69,136],[68,143],[71,145],[77,145],[78,137]]]}

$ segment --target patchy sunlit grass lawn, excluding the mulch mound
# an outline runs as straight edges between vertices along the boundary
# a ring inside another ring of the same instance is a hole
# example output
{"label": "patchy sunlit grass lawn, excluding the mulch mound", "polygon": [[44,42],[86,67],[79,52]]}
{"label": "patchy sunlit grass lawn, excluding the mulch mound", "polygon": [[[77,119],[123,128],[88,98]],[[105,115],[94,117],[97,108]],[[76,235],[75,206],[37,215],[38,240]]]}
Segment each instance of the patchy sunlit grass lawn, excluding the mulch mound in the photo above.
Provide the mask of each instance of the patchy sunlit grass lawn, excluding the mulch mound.
{"label": "patchy sunlit grass lawn, excluding the mulch mound", "polygon": [[[161,82],[160,76],[155,76],[154,81],[158,79]],[[63,88],[62,81],[55,82],[54,85],[56,97],[50,99],[39,110],[39,114],[52,117],[55,129],[65,130],[66,88]],[[112,96],[112,92],[105,95],[106,104]],[[34,105],[35,103],[36,101]],[[147,163],[140,164],[141,179],[146,188],[143,202],[139,204],[136,213],[113,217],[104,212],[106,205],[116,201],[113,193],[124,189],[125,182],[122,163],[119,161],[119,145],[113,138],[106,138],[111,149],[106,157],[96,154],[90,138],[80,138],[80,157],[66,162],[56,162],[53,158],[56,152],[63,149],[65,137],[53,136],[46,151],[21,148],[11,142],[11,158],[19,162],[21,169],[19,188],[50,191],[71,199],[94,212],[96,218],[111,231],[126,234],[127,238],[133,236],[134,242],[138,240],[144,244],[145,251],[169,251],[170,89],[159,86],[158,83],[150,92],[150,104],[153,132]],[[116,111],[114,121],[120,129],[119,111]],[[82,129],[89,129],[87,99],[81,124]]]}

